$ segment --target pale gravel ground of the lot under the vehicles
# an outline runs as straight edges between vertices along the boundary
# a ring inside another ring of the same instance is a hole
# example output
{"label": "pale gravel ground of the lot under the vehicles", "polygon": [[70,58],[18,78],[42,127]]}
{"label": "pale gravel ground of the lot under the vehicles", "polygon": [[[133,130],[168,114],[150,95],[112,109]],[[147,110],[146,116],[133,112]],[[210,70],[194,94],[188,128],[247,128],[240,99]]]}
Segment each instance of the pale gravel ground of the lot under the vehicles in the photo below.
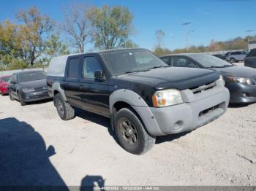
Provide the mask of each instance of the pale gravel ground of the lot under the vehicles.
{"label": "pale gravel ground of the lot under the vehicles", "polygon": [[256,185],[256,104],[230,106],[191,133],[164,136],[145,155],[116,143],[108,118],[52,101],[0,98],[0,185]]}

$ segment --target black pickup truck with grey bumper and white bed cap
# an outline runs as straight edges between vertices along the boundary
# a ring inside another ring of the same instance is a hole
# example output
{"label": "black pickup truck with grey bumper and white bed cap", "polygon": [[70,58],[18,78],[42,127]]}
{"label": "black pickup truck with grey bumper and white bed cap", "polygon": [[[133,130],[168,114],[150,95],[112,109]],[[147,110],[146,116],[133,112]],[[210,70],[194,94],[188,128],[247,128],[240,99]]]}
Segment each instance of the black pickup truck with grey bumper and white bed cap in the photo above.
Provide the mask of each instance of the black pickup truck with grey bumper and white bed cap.
{"label": "black pickup truck with grey bumper and white bed cap", "polygon": [[74,107],[110,117],[121,147],[138,155],[156,136],[215,120],[229,101],[217,71],[173,68],[145,49],[53,58],[47,83],[62,120],[75,117]]}

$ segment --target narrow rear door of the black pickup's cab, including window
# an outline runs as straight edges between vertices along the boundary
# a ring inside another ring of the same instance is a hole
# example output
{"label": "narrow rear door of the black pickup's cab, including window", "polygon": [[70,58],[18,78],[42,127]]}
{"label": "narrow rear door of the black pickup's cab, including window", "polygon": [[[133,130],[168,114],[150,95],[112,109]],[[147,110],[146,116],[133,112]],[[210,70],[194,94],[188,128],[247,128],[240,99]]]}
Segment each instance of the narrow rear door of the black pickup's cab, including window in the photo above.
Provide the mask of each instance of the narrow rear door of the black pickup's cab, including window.
{"label": "narrow rear door of the black pickup's cab, including window", "polygon": [[64,91],[69,104],[79,106],[79,69],[80,56],[72,56],[67,60],[65,71]]}

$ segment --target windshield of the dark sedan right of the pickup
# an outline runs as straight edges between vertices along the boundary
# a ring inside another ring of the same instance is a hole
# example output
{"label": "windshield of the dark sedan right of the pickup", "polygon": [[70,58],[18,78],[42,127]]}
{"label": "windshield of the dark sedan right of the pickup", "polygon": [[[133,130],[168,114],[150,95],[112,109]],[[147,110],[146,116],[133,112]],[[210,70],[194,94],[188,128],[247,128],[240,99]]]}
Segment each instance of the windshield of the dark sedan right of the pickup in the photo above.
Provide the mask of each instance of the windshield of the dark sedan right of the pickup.
{"label": "windshield of the dark sedan right of the pickup", "polygon": [[222,68],[233,66],[232,64],[223,61],[222,59],[213,55],[190,55],[190,57],[206,68]]}

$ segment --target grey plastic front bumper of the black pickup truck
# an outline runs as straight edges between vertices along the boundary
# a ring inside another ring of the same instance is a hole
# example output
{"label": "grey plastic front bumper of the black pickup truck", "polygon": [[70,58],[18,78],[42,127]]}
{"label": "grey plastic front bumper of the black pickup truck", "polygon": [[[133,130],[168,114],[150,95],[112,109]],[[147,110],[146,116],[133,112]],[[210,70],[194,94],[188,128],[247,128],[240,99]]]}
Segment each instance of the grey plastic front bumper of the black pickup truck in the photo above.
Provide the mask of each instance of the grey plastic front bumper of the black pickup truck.
{"label": "grey plastic front bumper of the black pickup truck", "polygon": [[[216,87],[194,95],[191,90],[183,90],[183,104],[151,109],[152,116],[146,128],[151,135],[162,136],[194,130],[206,125],[227,110],[230,94],[225,87]],[[151,125],[148,125],[151,124]]]}

